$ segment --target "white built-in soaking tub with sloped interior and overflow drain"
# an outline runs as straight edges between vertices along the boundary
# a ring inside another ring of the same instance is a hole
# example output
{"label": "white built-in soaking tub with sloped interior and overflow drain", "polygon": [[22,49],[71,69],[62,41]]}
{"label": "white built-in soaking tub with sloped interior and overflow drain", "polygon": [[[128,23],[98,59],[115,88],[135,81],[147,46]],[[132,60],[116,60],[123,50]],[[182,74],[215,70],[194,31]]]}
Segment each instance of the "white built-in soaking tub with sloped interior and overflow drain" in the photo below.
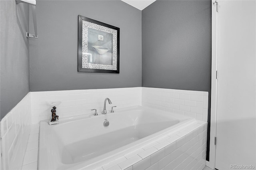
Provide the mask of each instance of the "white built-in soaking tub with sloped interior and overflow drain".
{"label": "white built-in soaking tub with sloped interior and overflow drain", "polygon": [[[98,116],[41,121],[38,169],[94,169],[156,140],[193,119],[147,107]],[[103,122],[109,121],[104,127]]]}

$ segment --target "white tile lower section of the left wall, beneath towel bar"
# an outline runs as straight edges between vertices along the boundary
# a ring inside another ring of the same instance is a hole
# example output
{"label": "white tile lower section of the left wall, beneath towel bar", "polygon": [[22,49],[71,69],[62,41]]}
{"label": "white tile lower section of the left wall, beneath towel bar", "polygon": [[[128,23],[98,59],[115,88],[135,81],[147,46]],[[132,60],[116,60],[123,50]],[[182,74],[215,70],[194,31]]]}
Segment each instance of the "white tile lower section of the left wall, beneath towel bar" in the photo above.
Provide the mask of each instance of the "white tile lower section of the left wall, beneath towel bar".
{"label": "white tile lower section of the left wall, beneath towel bar", "polygon": [[1,120],[2,168],[21,169],[30,133],[30,93]]}

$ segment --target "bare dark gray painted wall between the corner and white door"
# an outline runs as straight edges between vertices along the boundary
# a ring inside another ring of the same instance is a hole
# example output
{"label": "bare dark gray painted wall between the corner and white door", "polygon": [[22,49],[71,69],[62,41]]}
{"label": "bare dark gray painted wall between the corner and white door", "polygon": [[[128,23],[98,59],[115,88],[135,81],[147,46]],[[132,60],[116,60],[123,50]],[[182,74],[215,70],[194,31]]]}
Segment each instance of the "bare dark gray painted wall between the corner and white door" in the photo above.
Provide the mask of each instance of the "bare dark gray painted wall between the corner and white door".
{"label": "bare dark gray painted wall between the corner and white door", "polygon": [[157,0],[142,11],[142,86],[210,92],[210,1]]}

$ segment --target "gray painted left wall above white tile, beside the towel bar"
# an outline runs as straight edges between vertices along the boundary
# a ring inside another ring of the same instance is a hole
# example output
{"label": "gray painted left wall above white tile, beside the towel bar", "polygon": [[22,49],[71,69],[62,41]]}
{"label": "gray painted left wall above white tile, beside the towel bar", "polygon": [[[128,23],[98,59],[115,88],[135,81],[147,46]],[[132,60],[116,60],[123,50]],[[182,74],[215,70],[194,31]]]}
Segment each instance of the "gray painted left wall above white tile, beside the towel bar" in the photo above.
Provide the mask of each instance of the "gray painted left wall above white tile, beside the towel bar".
{"label": "gray painted left wall above white tile, beside the towel bar", "polygon": [[15,0],[0,6],[1,119],[29,92],[29,7]]}

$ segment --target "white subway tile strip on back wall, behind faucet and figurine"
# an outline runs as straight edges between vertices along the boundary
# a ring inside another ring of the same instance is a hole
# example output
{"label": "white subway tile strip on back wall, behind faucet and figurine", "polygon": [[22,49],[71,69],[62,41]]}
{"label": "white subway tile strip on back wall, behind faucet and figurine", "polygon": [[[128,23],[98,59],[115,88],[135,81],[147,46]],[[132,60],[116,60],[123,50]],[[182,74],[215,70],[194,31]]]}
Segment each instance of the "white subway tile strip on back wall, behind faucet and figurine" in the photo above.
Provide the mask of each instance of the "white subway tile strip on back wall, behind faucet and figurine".
{"label": "white subway tile strip on back wall, behind faucet and figurine", "polygon": [[93,114],[91,109],[97,109],[101,114],[106,97],[112,101],[112,105],[106,105],[107,112],[112,106],[124,108],[141,105],[141,87],[31,92],[32,124],[51,118],[52,108],[47,102],[62,102],[56,106],[56,114],[62,118]]}

